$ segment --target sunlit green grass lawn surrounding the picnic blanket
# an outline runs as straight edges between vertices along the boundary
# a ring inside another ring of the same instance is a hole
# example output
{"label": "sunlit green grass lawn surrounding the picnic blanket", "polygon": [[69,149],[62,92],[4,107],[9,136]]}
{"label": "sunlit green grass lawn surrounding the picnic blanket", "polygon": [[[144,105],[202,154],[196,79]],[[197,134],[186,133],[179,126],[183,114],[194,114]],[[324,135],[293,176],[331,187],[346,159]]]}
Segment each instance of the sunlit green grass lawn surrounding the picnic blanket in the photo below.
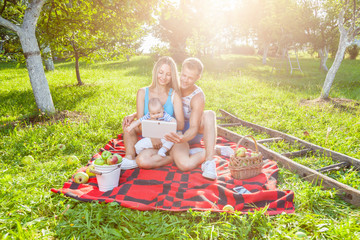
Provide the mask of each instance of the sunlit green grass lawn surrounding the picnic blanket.
{"label": "sunlit green grass lawn surrounding the picnic blanket", "polygon": [[[318,59],[301,58],[304,74],[271,73],[255,56],[227,55],[205,59],[198,85],[206,108],[224,109],[241,119],[273,128],[331,150],[360,158],[360,107],[303,105],[320,96],[325,74]],[[329,61],[330,67],[331,61]],[[2,239],[359,239],[360,209],[321,190],[298,175],[280,170],[279,188],[295,192],[295,214],[267,216],[240,213],[135,211],[117,204],[83,203],[53,194],[77,168],[85,165],[121,130],[122,118],[135,111],[136,92],[150,84],[153,61],[81,64],[84,86],[76,86],[73,63],[57,63],[47,72],[55,107],[82,113],[83,121],[68,117],[30,124],[39,114],[25,67],[0,63],[0,236]],[[360,60],[345,59],[331,97],[360,100]],[[41,114],[40,114],[41,115]],[[331,131],[328,129],[331,128]],[[248,129],[233,129],[241,134]],[[304,131],[309,136],[304,135]],[[58,144],[65,144],[61,151]],[[289,146],[272,148],[281,152]],[[24,165],[24,156],[35,163]],[[70,155],[81,163],[66,164]],[[299,159],[310,166],[324,160]],[[360,189],[352,169],[331,176]]]}

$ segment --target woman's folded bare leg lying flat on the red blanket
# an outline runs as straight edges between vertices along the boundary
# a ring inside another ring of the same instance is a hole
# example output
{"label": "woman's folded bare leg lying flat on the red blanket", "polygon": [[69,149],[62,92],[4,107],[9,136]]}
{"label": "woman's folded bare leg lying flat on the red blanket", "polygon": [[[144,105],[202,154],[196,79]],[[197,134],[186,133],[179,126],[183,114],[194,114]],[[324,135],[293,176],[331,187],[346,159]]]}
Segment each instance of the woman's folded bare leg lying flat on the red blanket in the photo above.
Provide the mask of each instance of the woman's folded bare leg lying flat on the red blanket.
{"label": "woman's folded bare leg lying flat on the red blanket", "polygon": [[162,157],[157,154],[157,149],[144,149],[136,157],[136,163],[140,168],[152,169],[165,166],[172,162],[172,158],[169,156]]}

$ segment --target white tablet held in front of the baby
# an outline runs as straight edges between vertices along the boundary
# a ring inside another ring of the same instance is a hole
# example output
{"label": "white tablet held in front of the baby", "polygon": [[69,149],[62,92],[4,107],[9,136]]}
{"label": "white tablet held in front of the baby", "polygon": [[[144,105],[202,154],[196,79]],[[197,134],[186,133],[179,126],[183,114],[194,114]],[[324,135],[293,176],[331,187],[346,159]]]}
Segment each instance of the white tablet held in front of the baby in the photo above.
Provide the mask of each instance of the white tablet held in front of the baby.
{"label": "white tablet held in front of the baby", "polygon": [[175,122],[143,120],[141,122],[143,137],[163,138],[165,134],[176,132]]}

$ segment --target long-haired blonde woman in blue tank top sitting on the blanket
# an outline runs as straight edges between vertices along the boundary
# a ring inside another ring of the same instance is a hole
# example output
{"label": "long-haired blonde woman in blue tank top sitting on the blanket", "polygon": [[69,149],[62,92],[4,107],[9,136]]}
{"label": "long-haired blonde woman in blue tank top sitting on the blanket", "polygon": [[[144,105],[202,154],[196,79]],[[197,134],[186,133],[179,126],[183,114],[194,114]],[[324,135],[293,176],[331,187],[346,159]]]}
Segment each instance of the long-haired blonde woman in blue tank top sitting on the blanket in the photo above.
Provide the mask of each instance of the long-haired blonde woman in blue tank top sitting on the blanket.
{"label": "long-haired blonde woman in blue tank top sitting on the blanket", "polygon": [[[123,129],[129,126],[135,118],[139,119],[149,112],[149,99],[159,98],[164,110],[176,118],[177,129],[182,130],[184,127],[184,114],[180,97],[178,71],[174,60],[170,57],[160,58],[155,63],[152,75],[151,85],[139,89],[136,96],[136,113],[124,118]],[[172,161],[169,157],[157,155],[157,149],[162,146],[160,139],[151,139],[154,149],[143,150],[135,159],[134,146],[138,140],[138,135],[141,134],[141,129],[138,127],[130,132],[123,132],[126,154],[123,158],[122,169],[132,169],[138,166],[141,168],[155,168]]]}

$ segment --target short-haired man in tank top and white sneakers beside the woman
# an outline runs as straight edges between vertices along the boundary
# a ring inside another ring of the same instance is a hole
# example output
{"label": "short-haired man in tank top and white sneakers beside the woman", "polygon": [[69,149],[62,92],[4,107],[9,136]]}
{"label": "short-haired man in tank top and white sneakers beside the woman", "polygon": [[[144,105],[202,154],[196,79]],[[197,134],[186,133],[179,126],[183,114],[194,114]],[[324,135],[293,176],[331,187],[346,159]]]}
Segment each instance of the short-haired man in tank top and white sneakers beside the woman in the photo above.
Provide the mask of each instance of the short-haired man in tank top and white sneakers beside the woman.
{"label": "short-haired man in tank top and white sneakers beside the woman", "polygon": [[[214,111],[204,110],[205,95],[195,83],[201,78],[203,64],[197,58],[188,58],[183,62],[180,75],[185,127],[182,133],[165,136],[175,143],[170,154],[176,166],[182,171],[192,170],[201,164],[203,176],[215,180],[217,178],[215,152],[230,155],[230,147],[216,146],[216,115]],[[190,149],[191,144],[204,140],[205,152],[202,148]]]}

